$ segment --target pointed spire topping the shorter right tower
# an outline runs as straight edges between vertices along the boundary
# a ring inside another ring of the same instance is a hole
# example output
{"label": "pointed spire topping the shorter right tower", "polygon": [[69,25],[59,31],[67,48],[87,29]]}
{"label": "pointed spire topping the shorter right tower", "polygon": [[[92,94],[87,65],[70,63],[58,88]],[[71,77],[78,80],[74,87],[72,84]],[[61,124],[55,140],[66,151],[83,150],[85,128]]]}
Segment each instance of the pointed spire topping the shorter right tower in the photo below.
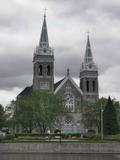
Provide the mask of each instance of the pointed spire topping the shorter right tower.
{"label": "pointed spire topping the shorter right tower", "polygon": [[92,57],[92,51],[91,51],[91,45],[90,45],[90,39],[89,39],[89,33],[88,33],[84,63],[89,63],[89,62],[93,62],[93,57]]}

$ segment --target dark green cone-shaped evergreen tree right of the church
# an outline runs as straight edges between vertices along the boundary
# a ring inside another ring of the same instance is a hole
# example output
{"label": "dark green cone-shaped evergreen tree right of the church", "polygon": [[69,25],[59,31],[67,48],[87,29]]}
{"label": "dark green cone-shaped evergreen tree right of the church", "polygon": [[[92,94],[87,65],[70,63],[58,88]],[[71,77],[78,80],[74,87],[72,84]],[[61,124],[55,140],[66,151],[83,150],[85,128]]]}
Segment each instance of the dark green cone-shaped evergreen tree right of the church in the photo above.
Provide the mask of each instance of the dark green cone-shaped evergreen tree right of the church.
{"label": "dark green cone-shaped evergreen tree right of the church", "polygon": [[116,109],[110,97],[103,112],[103,130],[104,134],[116,134],[119,130]]}

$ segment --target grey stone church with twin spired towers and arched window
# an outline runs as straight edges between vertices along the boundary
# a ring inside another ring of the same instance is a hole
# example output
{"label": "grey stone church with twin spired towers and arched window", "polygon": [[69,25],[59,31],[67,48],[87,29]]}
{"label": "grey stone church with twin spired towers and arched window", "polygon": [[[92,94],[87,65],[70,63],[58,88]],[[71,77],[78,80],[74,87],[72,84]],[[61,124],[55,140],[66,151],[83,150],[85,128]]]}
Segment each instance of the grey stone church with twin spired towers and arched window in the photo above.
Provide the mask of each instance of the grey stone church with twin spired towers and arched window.
{"label": "grey stone church with twin spired towers and arched window", "polygon": [[99,97],[98,68],[93,60],[89,35],[79,79],[78,86],[67,69],[64,78],[54,83],[54,52],[49,45],[46,15],[44,15],[40,41],[33,55],[33,85],[26,87],[19,96],[28,95],[32,89],[49,90],[55,95],[62,96],[72,118],[64,120],[62,128],[59,129],[65,133],[82,132],[85,129],[81,123],[82,102],[96,100]]}

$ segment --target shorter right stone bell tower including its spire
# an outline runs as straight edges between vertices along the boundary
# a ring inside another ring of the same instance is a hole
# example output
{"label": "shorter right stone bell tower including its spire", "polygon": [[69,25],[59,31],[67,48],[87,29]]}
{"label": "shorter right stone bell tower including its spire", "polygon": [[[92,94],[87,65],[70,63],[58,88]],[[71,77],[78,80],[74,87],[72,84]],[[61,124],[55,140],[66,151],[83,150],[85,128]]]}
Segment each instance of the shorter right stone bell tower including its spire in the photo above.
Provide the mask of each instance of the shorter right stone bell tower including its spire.
{"label": "shorter right stone bell tower including its spire", "polygon": [[87,37],[84,62],[80,69],[80,88],[83,91],[83,100],[98,99],[98,68],[93,60],[89,35]]}

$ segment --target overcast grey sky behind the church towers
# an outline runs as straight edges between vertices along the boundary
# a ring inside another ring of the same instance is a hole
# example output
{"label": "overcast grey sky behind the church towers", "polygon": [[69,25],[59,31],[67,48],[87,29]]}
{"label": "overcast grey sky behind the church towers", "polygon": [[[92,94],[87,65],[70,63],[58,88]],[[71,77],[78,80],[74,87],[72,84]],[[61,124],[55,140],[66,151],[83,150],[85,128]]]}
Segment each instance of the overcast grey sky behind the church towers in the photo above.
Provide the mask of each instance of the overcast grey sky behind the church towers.
{"label": "overcast grey sky behind the church towers", "polygon": [[33,51],[39,43],[44,8],[55,54],[55,81],[69,67],[79,84],[89,31],[100,96],[120,100],[120,0],[2,0],[0,103],[9,104],[32,85]]}

